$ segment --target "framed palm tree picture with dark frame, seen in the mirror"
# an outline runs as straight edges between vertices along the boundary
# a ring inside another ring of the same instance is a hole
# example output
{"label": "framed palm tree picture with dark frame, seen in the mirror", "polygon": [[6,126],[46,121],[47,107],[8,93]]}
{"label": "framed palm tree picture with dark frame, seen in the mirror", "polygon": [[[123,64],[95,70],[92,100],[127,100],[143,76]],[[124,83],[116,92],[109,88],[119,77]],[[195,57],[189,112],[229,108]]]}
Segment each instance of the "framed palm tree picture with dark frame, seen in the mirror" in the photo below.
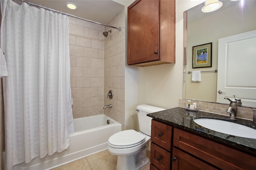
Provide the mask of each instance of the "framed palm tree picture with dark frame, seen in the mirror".
{"label": "framed palm tree picture with dark frame, seen in the mirror", "polygon": [[192,68],[212,67],[212,43],[193,47]]}

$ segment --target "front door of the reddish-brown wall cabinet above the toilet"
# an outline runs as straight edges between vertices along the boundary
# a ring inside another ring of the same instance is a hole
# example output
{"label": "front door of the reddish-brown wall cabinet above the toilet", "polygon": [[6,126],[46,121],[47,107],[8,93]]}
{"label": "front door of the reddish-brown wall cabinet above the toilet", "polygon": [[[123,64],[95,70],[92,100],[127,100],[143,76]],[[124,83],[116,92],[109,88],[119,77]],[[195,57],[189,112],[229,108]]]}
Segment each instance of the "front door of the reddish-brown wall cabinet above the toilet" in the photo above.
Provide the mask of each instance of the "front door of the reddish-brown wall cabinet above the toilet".
{"label": "front door of the reddish-brown wall cabinet above the toilet", "polygon": [[127,64],[160,59],[160,0],[137,0],[128,7]]}

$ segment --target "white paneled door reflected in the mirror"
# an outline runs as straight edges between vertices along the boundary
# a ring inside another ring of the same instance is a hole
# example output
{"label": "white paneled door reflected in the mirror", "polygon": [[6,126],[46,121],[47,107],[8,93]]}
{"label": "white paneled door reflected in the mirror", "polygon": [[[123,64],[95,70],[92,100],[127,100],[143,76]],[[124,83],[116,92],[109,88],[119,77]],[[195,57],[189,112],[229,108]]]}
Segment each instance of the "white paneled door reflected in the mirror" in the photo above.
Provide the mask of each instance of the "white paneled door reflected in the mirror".
{"label": "white paneled door reflected in the mirror", "polygon": [[242,105],[256,106],[256,30],[218,40],[216,102],[229,103],[224,97],[233,95]]}

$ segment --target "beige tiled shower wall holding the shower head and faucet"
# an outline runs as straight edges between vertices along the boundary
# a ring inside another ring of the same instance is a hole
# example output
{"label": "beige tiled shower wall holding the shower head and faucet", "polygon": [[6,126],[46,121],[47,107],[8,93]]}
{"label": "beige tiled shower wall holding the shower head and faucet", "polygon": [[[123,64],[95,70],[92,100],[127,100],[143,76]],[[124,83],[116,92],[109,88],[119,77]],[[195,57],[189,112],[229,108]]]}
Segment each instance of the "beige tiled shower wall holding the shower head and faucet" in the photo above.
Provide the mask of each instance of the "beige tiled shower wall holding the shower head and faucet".
{"label": "beige tiled shower wall holding the shower head and faucet", "polygon": [[[125,67],[125,10],[124,8],[108,22],[108,25],[121,27],[121,31],[105,27],[105,31],[112,29],[104,40],[104,114],[122,123],[124,129],[124,67]],[[113,91],[113,98],[106,97],[108,91]],[[101,108],[102,109],[102,108]]]}

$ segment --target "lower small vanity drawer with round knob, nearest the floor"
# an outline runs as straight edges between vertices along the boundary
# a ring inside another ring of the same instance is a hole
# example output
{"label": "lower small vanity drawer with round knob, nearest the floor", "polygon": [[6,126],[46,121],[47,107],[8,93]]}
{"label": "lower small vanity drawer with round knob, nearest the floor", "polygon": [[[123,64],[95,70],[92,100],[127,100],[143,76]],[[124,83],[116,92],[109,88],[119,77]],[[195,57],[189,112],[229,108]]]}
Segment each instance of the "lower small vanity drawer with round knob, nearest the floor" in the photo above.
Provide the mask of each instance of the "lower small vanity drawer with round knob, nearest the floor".
{"label": "lower small vanity drawer with round knob, nearest the floor", "polygon": [[171,153],[151,143],[150,162],[160,170],[170,170]]}

